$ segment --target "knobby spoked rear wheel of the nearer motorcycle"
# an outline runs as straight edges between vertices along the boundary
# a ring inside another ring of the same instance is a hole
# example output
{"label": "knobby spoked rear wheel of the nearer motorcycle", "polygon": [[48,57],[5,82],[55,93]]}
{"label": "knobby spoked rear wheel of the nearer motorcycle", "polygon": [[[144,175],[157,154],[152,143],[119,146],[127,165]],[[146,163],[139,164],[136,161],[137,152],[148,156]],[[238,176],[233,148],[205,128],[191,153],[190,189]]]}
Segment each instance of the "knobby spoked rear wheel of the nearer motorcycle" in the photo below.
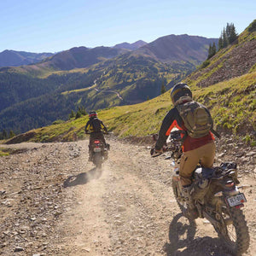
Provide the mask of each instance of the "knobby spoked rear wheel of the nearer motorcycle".
{"label": "knobby spoked rear wheel of the nearer motorcycle", "polygon": [[221,208],[220,224],[214,227],[225,247],[234,255],[241,255],[249,247],[247,222],[240,209]]}

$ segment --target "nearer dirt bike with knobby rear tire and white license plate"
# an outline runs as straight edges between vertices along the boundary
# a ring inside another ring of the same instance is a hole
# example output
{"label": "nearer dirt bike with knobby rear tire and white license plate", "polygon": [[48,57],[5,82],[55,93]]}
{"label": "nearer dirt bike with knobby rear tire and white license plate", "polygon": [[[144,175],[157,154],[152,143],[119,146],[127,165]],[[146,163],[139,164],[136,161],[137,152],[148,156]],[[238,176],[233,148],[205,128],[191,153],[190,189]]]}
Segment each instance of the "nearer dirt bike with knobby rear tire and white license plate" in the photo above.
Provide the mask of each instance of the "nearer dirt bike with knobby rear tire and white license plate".
{"label": "nearer dirt bike with knobby rear tire and white license plate", "polygon": [[[186,216],[189,211],[187,200],[183,196],[183,189],[179,178],[179,161],[182,152],[182,137],[180,131],[172,131],[170,142],[165,151],[172,151],[170,158],[174,160],[172,166],[172,189],[177,205]],[[249,247],[249,233],[247,222],[241,211],[247,201],[237,187],[236,163],[222,163],[213,168],[198,165],[193,172],[192,189],[190,195],[198,211],[197,218],[207,218],[217,231],[224,246],[235,255],[241,255]]]}

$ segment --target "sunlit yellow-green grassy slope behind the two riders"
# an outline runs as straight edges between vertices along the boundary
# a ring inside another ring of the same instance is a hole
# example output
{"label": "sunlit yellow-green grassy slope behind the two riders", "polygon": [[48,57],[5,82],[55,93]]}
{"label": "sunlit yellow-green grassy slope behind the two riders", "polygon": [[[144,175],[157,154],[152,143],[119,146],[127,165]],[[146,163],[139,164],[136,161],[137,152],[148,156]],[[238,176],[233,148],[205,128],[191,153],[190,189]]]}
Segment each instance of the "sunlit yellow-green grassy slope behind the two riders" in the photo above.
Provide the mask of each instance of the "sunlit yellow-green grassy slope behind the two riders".
{"label": "sunlit yellow-green grassy slope behind the two riders", "polygon": [[[256,125],[256,71],[229,81],[193,90],[195,100],[210,108],[216,129],[236,134],[253,141]],[[159,131],[161,121],[172,108],[170,92],[150,101],[131,106],[108,108],[98,111],[99,118],[119,137],[143,137]],[[28,131],[16,137],[15,142],[72,141],[74,132],[84,137],[88,118],[73,119]]]}

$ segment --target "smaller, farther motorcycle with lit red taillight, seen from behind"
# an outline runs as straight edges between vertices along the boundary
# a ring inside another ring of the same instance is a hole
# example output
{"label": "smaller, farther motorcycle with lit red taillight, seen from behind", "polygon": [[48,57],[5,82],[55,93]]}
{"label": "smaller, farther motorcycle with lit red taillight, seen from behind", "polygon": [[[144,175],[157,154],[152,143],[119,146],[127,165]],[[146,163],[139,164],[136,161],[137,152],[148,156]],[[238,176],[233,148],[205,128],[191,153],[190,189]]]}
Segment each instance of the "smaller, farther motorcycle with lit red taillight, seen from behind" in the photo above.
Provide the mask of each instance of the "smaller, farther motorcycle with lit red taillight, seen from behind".
{"label": "smaller, farther motorcycle with lit red taillight, seen from behind", "polygon": [[96,168],[101,169],[104,160],[108,159],[110,145],[105,145],[100,139],[94,139],[90,145],[91,159]]}

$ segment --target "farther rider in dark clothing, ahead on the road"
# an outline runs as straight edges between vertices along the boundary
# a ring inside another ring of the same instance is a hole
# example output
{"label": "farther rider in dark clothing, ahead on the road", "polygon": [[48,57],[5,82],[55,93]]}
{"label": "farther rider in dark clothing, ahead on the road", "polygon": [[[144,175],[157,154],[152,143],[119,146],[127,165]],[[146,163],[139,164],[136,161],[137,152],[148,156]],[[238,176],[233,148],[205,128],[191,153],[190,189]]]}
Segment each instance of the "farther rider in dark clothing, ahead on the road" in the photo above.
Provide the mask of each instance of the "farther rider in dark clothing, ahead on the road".
{"label": "farther rider in dark clothing, ahead on the road", "polygon": [[95,111],[90,111],[89,120],[85,125],[85,133],[90,133],[90,143],[89,143],[89,160],[92,160],[91,146],[95,139],[98,139],[104,143],[105,148],[107,148],[107,143],[105,141],[102,130],[108,134],[107,127],[103,124],[102,120],[97,118],[97,113]]}

